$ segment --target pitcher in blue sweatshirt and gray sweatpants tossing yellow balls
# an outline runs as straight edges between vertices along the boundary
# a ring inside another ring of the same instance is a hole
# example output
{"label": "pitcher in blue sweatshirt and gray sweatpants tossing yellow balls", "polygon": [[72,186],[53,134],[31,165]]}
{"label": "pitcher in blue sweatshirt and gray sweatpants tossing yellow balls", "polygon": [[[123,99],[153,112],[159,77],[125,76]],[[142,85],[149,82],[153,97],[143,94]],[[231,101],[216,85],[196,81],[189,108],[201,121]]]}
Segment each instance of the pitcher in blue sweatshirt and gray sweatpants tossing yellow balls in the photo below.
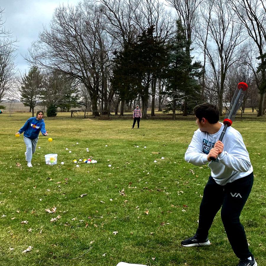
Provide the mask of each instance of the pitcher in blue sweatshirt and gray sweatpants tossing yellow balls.
{"label": "pitcher in blue sweatshirt and gray sweatpants tossing yellow balls", "polygon": [[45,129],[45,124],[43,120],[43,111],[38,111],[36,113],[36,117],[31,117],[29,118],[24,126],[16,133],[21,134],[24,132],[24,142],[26,144],[26,161],[27,161],[27,166],[32,167],[31,164],[31,159],[32,155],[35,152],[37,142],[39,139],[39,133],[41,132],[43,136],[47,136],[47,132]]}

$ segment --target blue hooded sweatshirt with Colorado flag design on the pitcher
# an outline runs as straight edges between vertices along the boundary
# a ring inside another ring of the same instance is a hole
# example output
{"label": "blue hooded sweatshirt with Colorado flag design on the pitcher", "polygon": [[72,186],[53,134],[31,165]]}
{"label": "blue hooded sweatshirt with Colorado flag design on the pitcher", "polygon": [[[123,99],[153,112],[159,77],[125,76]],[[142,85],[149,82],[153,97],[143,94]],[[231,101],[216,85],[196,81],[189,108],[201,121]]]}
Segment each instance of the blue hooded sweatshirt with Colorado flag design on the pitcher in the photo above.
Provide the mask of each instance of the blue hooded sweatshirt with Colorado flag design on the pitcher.
{"label": "blue hooded sweatshirt with Colorado flag design on the pitcher", "polygon": [[39,136],[40,132],[42,132],[42,134],[46,133],[44,120],[38,120],[36,116],[31,117],[26,121],[24,126],[22,126],[22,128],[18,132],[20,134],[24,132],[25,137],[34,140]]}

